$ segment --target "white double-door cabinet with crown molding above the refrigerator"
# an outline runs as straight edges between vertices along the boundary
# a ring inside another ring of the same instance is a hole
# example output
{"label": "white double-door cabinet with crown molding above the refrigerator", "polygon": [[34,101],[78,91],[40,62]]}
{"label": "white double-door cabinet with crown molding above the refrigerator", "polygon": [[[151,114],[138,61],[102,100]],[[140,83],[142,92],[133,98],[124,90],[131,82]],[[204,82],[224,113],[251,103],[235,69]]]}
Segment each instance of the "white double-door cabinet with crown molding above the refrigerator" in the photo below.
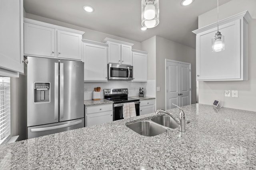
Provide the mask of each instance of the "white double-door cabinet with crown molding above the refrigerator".
{"label": "white double-door cabinet with crown molding above the refrigerator", "polygon": [[82,61],[83,31],[24,18],[24,55]]}

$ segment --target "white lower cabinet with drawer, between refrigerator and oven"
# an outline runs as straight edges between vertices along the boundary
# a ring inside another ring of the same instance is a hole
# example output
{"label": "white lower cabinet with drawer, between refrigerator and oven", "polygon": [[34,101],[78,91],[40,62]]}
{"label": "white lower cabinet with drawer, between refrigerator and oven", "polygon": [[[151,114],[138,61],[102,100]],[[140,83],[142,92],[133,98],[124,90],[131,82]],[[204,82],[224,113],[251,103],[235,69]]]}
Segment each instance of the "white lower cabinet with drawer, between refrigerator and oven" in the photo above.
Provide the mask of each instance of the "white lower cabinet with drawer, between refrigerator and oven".
{"label": "white lower cabinet with drawer, between refrigerator and oven", "polygon": [[98,125],[113,121],[113,105],[86,107],[86,126]]}

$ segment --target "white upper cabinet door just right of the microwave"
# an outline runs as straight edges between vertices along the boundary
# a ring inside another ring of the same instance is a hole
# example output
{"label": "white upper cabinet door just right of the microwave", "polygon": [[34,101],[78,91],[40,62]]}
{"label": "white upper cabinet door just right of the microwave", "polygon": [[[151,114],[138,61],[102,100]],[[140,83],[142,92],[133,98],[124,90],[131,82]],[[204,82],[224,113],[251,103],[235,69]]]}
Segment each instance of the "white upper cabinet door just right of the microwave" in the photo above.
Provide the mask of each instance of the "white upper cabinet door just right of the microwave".
{"label": "white upper cabinet door just right of the microwave", "polygon": [[147,55],[141,53],[132,53],[132,65],[133,65],[133,82],[146,82],[148,64]]}

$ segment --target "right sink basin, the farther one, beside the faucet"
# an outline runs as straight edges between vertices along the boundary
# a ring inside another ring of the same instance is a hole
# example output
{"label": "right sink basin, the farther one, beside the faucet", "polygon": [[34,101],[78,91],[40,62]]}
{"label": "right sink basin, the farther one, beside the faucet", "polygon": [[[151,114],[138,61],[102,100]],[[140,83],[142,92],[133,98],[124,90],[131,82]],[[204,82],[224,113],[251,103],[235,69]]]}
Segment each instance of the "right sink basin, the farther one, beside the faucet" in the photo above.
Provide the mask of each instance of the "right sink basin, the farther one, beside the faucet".
{"label": "right sink basin, the farther one, beside the faucet", "polygon": [[179,127],[179,124],[176,121],[174,121],[174,119],[172,119],[170,116],[167,116],[167,115],[154,117],[151,120],[160,125],[163,125],[165,127],[169,127],[172,129]]}

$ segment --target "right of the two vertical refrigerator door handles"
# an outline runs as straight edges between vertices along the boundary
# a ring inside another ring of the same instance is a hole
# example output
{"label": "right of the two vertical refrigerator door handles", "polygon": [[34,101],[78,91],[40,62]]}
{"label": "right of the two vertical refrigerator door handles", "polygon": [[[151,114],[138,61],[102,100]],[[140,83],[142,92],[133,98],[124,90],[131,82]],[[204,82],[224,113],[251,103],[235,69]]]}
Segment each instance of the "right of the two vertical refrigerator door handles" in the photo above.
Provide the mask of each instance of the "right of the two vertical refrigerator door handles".
{"label": "right of the two vertical refrigerator door handles", "polygon": [[64,117],[64,63],[60,63],[60,118]]}

